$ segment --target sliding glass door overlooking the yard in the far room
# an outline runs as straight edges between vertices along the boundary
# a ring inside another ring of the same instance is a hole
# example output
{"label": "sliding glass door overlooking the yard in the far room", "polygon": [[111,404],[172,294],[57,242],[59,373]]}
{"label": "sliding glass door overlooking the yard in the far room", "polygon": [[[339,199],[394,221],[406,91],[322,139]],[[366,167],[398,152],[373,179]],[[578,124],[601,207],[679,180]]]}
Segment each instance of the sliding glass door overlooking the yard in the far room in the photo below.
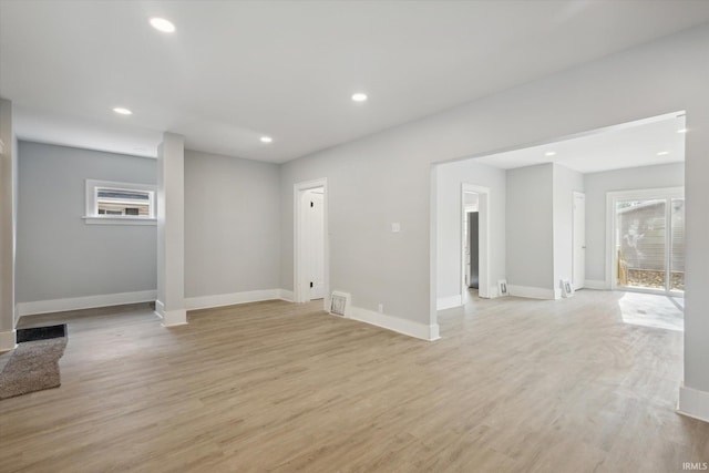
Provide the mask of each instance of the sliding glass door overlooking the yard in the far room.
{"label": "sliding glass door overlooking the yard in the far room", "polygon": [[613,193],[614,287],[685,290],[684,189]]}

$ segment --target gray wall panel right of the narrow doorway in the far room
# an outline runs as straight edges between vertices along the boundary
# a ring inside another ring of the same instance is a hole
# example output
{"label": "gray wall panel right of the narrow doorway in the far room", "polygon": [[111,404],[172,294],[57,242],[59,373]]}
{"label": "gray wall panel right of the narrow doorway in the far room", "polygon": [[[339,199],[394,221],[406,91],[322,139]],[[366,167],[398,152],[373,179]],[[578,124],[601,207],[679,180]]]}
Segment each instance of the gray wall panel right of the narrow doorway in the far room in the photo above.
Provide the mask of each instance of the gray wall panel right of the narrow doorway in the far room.
{"label": "gray wall panel right of the narrow doorway in the far room", "polygon": [[553,164],[507,171],[507,282],[554,289]]}

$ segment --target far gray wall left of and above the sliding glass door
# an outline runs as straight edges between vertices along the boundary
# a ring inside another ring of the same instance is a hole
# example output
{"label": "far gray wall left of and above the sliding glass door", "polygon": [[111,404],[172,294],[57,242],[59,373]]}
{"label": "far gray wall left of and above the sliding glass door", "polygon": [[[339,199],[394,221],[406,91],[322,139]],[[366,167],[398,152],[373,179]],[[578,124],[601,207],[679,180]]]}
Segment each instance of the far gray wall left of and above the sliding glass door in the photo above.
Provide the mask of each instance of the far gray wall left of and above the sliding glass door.
{"label": "far gray wall left of and above the sliding glass door", "polygon": [[606,279],[606,193],[684,185],[685,163],[586,174],[586,279]]}

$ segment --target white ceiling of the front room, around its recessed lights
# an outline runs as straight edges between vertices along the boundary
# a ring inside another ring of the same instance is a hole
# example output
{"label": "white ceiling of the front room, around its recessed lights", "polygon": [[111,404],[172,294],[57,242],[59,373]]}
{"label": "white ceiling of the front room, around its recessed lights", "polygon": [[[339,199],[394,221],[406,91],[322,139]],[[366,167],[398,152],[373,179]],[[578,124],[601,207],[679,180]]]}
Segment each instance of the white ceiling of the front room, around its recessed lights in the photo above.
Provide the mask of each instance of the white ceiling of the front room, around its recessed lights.
{"label": "white ceiling of the front room, around its recessed lights", "polygon": [[171,131],[278,163],[706,21],[682,0],[1,0],[0,96],[25,140],[154,156]]}

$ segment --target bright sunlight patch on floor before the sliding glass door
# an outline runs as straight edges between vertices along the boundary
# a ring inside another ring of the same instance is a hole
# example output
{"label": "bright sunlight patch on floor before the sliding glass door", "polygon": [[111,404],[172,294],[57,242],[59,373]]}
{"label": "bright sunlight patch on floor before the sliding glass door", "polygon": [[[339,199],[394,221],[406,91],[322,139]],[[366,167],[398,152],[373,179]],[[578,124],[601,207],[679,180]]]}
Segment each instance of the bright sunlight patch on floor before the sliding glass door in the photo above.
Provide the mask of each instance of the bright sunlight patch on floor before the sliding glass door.
{"label": "bright sunlight patch on floor before the sliding glass door", "polygon": [[685,330],[685,299],[653,294],[626,292],[618,300],[625,323],[667,330]]}

